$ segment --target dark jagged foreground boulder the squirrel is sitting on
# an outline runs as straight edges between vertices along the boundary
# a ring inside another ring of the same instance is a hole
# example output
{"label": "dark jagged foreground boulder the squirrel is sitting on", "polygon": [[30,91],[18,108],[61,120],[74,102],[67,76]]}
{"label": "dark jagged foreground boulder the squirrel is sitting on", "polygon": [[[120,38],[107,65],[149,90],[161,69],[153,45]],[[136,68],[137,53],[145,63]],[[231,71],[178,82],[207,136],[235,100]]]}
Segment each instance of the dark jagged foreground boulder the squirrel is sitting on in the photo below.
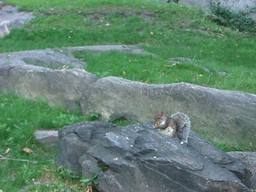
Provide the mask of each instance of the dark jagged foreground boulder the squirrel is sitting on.
{"label": "dark jagged foreground boulder the squirrel is sitting on", "polygon": [[95,187],[100,192],[250,191],[225,167],[228,163],[243,170],[237,159],[197,134],[192,133],[186,146],[152,126],[153,122],[122,128],[107,122],[66,126],[59,130],[57,166],[77,174],[82,170],[85,178],[98,174]]}

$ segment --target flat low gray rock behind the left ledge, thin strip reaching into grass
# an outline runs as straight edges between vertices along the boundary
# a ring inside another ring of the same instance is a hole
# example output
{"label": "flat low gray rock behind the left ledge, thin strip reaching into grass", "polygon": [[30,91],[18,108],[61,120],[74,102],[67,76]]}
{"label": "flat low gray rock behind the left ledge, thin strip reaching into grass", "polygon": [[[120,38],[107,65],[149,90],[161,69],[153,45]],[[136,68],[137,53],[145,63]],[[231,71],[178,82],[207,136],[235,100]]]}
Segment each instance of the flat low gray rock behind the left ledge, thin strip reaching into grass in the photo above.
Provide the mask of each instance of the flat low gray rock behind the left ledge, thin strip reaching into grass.
{"label": "flat low gray rock behind the left ledge, thin strip reaching into grass", "polygon": [[[86,68],[86,62],[74,58],[75,53],[102,53],[106,51],[116,51],[122,54],[153,55],[138,46],[76,46],[62,47],[47,50],[26,50],[0,54],[0,66],[4,65],[34,65],[44,66],[51,69],[62,68]],[[154,56],[156,57],[156,56]]]}

